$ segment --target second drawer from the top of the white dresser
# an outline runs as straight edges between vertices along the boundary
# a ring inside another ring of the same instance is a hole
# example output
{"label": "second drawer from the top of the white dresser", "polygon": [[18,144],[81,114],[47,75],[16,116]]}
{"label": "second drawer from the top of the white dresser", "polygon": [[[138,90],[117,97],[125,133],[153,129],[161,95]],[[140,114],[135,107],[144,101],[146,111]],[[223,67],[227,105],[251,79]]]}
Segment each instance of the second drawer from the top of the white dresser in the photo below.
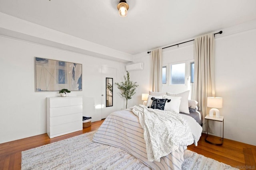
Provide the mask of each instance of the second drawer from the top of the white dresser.
{"label": "second drawer from the top of the white dresser", "polygon": [[50,117],[61,116],[61,115],[68,115],[74,113],[82,113],[83,106],[65,106],[65,107],[54,107],[50,108]]}

